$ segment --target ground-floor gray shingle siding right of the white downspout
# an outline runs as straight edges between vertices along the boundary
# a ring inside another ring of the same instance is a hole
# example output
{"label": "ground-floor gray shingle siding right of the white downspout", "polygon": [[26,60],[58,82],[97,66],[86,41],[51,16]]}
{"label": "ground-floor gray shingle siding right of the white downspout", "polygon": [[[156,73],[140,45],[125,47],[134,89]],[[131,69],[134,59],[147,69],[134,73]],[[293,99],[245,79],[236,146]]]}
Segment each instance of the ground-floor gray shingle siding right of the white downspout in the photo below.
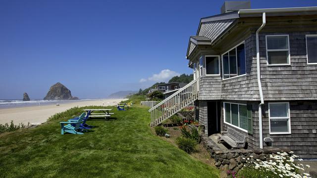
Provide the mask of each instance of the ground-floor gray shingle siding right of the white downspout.
{"label": "ground-floor gray shingle siding right of the white downspout", "polygon": [[[269,134],[268,103],[263,106],[263,137],[272,138],[272,146],[289,148],[301,158],[317,158],[317,101],[290,101],[292,134]],[[315,131],[314,131],[315,130]]]}

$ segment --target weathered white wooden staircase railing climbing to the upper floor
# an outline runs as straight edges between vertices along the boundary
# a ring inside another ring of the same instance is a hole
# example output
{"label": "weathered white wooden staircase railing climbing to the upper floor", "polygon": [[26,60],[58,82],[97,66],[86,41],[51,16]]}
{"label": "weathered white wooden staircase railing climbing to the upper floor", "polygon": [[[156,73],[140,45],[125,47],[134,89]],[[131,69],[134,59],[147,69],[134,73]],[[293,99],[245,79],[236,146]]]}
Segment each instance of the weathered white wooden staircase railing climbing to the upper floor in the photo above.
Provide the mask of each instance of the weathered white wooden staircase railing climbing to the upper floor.
{"label": "weathered white wooden staircase railing climbing to the upper floor", "polygon": [[193,80],[185,87],[179,89],[159,104],[152,107],[149,110],[149,112],[151,112],[151,127],[159,125],[164,120],[170,118],[172,115],[197,100],[199,93],[198,80],[199,78]]}

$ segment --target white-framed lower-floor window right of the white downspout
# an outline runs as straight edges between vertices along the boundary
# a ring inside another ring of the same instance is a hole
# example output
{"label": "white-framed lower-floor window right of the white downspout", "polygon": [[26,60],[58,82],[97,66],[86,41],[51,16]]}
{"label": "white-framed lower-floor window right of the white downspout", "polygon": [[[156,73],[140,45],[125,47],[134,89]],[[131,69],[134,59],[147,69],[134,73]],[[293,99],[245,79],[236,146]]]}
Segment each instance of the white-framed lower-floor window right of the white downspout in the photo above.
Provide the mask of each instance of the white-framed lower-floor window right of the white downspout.
{"label": "white-framed lower-floor window right of the white downspout", "polygon": [[289,103],[268,103],[269,134],[291,134]]}

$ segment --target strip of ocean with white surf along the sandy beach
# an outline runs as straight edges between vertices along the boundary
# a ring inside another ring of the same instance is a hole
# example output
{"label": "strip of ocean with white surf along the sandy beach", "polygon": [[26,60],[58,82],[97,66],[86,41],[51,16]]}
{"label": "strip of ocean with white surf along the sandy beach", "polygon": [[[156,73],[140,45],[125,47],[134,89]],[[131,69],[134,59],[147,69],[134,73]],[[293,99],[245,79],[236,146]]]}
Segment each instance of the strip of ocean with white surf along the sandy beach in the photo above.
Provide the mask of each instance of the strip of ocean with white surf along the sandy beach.
{"label": "strip of ocean with white surf along the sandy beach", "polygon": [[78,101],[85,101],[85,100],[93,100],[93,99],[80,99],[80,100],[31,99],[30,101],[23,101],[22,99],[0,100],[0,109],[26,107],[26,106],[56,105],[61,103],[70,103],[70,102],[78,102]]}

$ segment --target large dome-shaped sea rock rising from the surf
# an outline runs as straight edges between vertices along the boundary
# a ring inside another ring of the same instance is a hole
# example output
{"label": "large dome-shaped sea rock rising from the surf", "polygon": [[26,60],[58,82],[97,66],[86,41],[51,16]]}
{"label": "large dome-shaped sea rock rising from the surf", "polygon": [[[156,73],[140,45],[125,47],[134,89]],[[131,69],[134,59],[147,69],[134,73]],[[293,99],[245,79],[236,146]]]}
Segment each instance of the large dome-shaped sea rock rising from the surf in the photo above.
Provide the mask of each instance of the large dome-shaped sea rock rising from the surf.
{"label": "large dome-shaped sea rock rising from the surf", "polygon": [[78,97],[73,97],[69,89],[61,83],[54,84],[44,100],[76,100]]}

